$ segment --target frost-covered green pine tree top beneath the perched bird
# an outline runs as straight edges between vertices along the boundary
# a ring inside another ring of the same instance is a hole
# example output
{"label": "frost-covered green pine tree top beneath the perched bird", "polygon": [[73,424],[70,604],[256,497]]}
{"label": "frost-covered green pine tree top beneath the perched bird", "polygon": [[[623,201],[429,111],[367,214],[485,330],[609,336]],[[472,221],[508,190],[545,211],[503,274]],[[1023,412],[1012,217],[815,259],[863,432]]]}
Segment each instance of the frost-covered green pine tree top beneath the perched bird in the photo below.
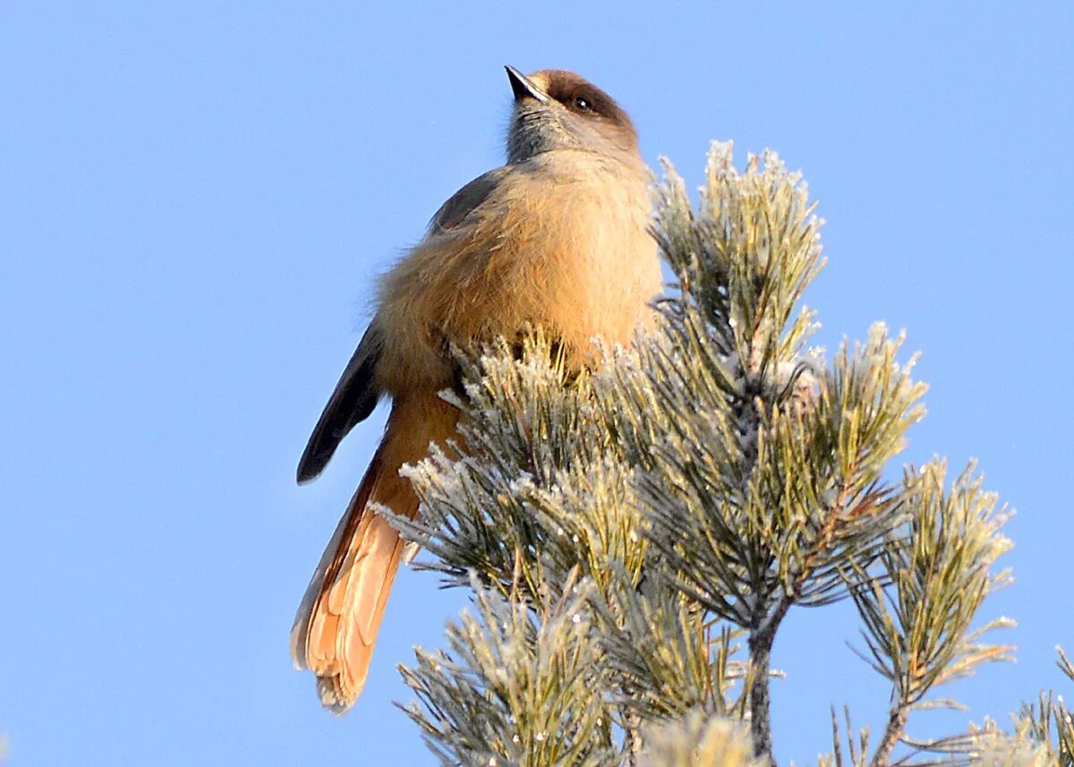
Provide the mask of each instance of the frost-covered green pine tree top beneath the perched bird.
{"label": "frost-covered green pine tree top beneath the perched bird", "polygon": [[430,748],[489,767],[770,764],[781,624],[852,599],[891,704],[874,743],[833,712],[823,764],[1074,764],[1050,695],[1011,734],[908,734],[911,712],[954,705],[937,688],[1010,656],[990,636],[1011,622],[976,620],[1010,580],[1007,511],[973,465],[891,478],[924,415],[901,336],[809,346],[822,221],[800,175],[772,153],[739,172],[715,144],[696,209],[670,165],[654,188],[677,280],[656,327],[582,374],[539,329],[462,350],[465,455],[408,468],[422,512],[393,523],[474,594],[446,649],[403,668]]}

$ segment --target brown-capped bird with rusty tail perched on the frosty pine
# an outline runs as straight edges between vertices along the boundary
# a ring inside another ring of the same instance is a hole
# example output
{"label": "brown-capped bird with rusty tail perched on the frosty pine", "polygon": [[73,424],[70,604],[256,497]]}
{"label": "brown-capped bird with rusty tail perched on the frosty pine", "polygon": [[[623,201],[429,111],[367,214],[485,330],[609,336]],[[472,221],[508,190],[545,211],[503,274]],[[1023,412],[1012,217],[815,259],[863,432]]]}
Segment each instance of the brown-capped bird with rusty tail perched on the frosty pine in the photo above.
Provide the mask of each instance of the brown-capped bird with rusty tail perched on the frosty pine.
{"label": "brown-capped bird with rusty tail perched on the frosty pine", "polygon": [[456,348],[542,329],[568,367],[596,364],[594,339],[628,344],[661,292],[649,171],[626,112],[566,70],[507,67],[506,163],[455,192],[379,280],[375,312],[299,463],[317,477],[340,440],[391,400],[383,437],[310,579],[291,631],[297,668],[336,713],[357,700],[404,541],[376,513],[413,518],[402,466],[446,447],[459,409]]}

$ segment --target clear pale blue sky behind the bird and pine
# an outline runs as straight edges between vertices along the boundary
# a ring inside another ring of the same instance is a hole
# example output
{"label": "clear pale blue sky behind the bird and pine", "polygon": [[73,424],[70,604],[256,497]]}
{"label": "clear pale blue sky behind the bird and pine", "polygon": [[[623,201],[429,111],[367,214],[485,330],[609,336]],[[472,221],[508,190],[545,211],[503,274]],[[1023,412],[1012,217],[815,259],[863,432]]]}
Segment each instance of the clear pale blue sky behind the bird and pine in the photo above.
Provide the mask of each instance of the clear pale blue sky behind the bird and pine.
{"label": "clear pale blue sky behind the bird and pine", "polygon": [[[977,457],[1017,507],[984,614],[1016,665],[1074,650],[1074,6],[1056,3],[4,2],[0,8],[0,733],[11,764],[435,764],[392,706],[464,603],[401,574],[344,719],[291,669],[293,610],[383,409],[294,484],[373,277],[502,162],[503,66],[574,69],[697,186],[710,140],[777,149],[829,221],[819,341],[919,349],[908,460]],[[868,5],[869,8],[865,8]],[[897,467],[894,467],[897,468]],[[829,704],[882,724],[847,606],[793,612],[777,754]],[[1068,696],[1074,694],[1069,686]]]}

